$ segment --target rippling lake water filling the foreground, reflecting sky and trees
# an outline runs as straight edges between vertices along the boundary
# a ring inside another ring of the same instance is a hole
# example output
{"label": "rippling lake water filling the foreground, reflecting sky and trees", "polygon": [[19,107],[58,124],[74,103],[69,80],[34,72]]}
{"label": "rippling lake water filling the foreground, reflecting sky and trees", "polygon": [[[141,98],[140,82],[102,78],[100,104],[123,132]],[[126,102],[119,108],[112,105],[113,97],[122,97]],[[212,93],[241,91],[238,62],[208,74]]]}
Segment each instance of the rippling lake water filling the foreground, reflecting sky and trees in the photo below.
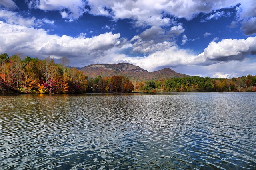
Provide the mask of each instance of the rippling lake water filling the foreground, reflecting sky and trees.
{"label": "rippling lake water filling the foreground, reflecting sky and trees", "polygon": [[0,169],[256,169],[256,93],[0,96]]}

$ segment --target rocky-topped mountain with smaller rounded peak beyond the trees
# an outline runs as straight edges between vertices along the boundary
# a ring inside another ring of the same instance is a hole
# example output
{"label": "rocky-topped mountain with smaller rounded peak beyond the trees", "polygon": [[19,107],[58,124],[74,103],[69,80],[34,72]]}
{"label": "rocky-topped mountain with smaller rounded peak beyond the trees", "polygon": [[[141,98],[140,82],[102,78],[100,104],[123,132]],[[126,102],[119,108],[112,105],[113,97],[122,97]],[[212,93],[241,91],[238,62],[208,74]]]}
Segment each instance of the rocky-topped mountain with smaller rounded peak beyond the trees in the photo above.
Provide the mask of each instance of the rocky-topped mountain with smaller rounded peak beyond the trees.
{"label": "rocky-topped mountain with smaller rounded peak beyond the trees", "polygon": [[180,74],[171,70],[170,68],[164,68],[162,70],[148,72],[139,66],[135,66],[128,63],[119,64],[91,64],[82,68],[86,76],[95,78],[98,75],[102,77],[111,76],[126,76],[133,82],[159,80],[174,77],[188,77],[186,74]]}

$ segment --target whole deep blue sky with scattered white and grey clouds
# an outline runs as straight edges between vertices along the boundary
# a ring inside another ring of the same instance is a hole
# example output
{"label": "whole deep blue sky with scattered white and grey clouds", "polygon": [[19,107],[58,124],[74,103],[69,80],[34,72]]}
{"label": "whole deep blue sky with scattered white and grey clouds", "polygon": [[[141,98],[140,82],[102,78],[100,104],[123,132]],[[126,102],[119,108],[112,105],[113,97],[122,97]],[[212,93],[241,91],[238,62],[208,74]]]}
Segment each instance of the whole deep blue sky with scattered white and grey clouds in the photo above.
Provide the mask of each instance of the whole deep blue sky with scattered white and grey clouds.
{"label": "whole deep blue sky with scattered white and grey clouds", "polygon": [[0,53],[256,75],[256,0],[0,0]]}

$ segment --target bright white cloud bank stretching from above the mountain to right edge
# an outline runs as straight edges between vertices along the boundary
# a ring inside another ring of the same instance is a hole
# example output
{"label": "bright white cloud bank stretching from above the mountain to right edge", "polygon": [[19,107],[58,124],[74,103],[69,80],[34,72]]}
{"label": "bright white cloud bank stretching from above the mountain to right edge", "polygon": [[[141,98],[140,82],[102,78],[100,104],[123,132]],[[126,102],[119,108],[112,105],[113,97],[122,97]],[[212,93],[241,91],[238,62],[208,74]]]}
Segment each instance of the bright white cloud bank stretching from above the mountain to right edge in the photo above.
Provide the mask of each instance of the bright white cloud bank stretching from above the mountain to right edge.
{"label": "bright white cloud bank stretching from above the mountain to right edge", "polygon": [[[223,39],[218,43],[211,42],[208,47],[204,49],[204,52],[199,55],[195,55],[188,50],[179,49],[177,45],[172,45],[167,49],[155,51],[154,53],[151,53],[150,55],[144,57],[122,56],[122,61],[137,64],[142,68],[146,68],[147,70],[152,71],[157,70],[157,68],[164,67],[206,67],[220,66],[224,63],[241,63],[244,61],[248,61],[248,58],[246,58],[246,56],[255,54],[256,37],[248,37],[247,39]],[[254,64],[255,63],[256,61],[254,62]],[[252,67],[250,68],[255,70],[253,68],[253,66],[255,67],[255,65],[248,63],[246,65],[251,65]],[[229,65],[229,68],[230,67],[231,65]],[[232,68],[232,70],[236,70],[236,67]],[[242,72],[242,70],[243,69],[241,69],[240,72]],[[225,74],[230,74],[230,72]],[[232,73],[232,75],[233,74],[234,73]]]}

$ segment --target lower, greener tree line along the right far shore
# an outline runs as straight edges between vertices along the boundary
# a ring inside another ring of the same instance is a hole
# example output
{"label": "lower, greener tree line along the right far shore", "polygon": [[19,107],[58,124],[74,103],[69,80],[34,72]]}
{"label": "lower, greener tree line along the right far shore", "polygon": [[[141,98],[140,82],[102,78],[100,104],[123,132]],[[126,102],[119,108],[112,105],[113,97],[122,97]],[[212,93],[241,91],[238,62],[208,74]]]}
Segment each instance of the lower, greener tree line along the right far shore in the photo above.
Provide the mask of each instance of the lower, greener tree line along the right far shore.
{"label": "lower, greener tree line along the right far shore", "polygon": [[256,92],[256,76],[238,78],[183,77],[149,80],[134,85],[137,92]]}

